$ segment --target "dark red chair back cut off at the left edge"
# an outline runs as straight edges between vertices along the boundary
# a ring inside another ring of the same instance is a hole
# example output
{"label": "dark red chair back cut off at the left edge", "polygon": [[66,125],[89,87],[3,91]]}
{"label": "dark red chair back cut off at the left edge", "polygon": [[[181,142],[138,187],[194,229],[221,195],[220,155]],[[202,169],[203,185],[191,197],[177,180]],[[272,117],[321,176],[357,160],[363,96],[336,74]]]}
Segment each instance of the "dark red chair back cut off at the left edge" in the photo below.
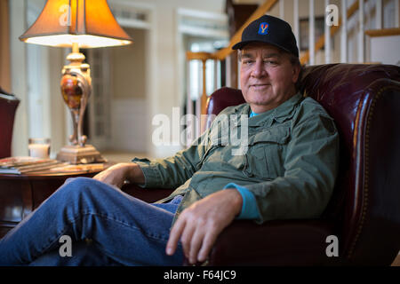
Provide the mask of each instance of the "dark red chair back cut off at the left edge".
{"label": "dark red chair back cut off at the left edge", "polygon": [[0,93],[0,158],[11,156],[12,129],[20,99]]}

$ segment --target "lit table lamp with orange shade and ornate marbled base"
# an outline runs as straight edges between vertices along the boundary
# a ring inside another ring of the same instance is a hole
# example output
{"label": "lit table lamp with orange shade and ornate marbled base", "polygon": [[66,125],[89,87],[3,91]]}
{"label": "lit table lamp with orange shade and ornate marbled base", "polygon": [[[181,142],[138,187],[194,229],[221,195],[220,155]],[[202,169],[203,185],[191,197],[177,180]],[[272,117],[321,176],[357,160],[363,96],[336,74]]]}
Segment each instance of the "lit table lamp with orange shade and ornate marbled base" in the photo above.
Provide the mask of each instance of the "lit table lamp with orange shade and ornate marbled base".
{"label": "lit table lamp with orange shade and ornate marbled base", "polygon": [[104,162],[99,151],[86,145],[84,110],[92,92],[90,66],[79,48],[96,48],[132,43],[118,25],[106,0],[48,0],[35,23],[20,36],[25,43],[72,47],[62,69],[61,94],[74,125],[70,145],[61,148],[57,160],[77,163]]}

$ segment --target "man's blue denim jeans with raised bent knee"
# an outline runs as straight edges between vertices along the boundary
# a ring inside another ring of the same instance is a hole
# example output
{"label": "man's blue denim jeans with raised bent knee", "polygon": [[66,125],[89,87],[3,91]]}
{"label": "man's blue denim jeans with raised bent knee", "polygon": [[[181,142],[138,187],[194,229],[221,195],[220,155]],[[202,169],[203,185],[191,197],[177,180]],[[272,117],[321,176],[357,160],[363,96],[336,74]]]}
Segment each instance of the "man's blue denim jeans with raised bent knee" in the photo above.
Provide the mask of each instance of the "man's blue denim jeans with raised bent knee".
{"label": "man's blue denim jeans with raised bent knee", "polygon": [[[181,244],[165,254],[180,200],[149,204],[92,178],[69,178],[0,240],[0,265],[181,265]],[[60,256],[62,235],[72,256]]]}

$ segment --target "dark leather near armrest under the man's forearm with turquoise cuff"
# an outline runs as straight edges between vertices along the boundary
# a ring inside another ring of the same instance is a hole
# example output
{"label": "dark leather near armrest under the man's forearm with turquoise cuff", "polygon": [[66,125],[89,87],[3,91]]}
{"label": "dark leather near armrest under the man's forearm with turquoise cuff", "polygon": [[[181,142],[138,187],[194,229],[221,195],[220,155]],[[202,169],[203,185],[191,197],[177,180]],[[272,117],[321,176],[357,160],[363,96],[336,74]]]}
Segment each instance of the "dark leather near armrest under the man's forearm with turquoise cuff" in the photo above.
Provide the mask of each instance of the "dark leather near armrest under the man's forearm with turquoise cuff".
{"label": "dark leather near armrest under the man's forearm with turquoise cuff", "polygon": [[[236,220],[218,237],[208,265],[316,265],[326,256],[326,237],[333,225],[325,220],[274,220],[258,225]],[[185,260],[185,264],[188,261]]]}

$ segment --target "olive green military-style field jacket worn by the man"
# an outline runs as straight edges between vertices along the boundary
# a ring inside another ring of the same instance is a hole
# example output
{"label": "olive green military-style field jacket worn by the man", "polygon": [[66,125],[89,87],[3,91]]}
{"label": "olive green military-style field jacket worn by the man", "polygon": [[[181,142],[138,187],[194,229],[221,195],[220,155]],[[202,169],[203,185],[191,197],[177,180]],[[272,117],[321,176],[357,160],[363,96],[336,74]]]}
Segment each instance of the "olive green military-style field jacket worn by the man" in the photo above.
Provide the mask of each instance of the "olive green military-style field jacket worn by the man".
{"label": "olive green military-style field jacket worn by the man", "polygon": [[322,214],[339,164],[333,119],[300,93],[268,112],[248,118],[250,112],[248,104],[229,106],[188,149],[165,159],[132,160],[143,170],[143,187],[176,188],[159,202],[184,195],[174,220],[230,182],[254,194],[257,223]]}

